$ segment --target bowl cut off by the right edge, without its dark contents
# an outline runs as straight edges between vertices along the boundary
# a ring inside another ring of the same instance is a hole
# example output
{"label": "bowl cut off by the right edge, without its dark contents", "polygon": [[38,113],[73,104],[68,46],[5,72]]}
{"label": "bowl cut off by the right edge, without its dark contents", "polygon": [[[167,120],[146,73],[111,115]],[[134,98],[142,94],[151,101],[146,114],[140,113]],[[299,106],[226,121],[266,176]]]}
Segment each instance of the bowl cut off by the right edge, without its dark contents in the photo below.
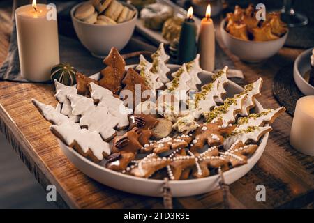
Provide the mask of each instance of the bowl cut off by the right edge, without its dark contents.
{"label": "bowl cut off by the right edge, without its dark contents", "polygon": [[314,95],[314,86],[306,82],[304,79],[304,74],[311,69],[311,55],[312,50],[307,49],[302,52],[297,59],[294,61],[293,67],[293,78],[295,84],[297,84],[298,88],[304,95]]}

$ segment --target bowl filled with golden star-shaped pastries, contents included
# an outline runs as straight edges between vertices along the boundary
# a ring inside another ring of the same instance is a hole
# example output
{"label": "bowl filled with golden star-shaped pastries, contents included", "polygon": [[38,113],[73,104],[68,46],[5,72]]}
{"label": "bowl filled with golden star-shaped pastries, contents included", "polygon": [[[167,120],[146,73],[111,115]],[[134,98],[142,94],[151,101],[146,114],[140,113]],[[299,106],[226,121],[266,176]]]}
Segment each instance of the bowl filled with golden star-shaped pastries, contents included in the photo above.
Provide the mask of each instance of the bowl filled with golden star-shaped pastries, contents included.
{"label": "bowl filled with golden star-shaped pastries, contents included", "polygon": [[287,25],[280,13],[267,13],[266,20],[257,20],[257,12],[251,4],[248,8],[235,6],[234,13],[220,24],[223,43],[239,59],[260,62],[274,56],[287,39]]}

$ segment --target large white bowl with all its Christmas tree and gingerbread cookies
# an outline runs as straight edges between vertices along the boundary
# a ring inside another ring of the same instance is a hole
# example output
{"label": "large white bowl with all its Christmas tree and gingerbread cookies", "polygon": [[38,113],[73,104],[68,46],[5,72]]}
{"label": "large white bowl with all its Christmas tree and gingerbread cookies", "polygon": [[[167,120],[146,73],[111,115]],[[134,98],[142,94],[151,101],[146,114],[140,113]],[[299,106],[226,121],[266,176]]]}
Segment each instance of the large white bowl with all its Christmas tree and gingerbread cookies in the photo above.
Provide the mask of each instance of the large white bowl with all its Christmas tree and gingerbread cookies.
{"label": "large white bowl with all its Christmas tree and gingerbread cookies", "polygon": [[244,176],[285,111],[257,101],[262,79],[241,88],[227,67],[200,69],[199,56],[167,64],[163,44],[151,59],[126,66],[112,48],[99,73],[77,73],[75,86],[54,81],[57,109],[33,99],[68,160],[104,185],[154,197],[165,179],[183,197],[216,190],[221,174],[227,184]]}

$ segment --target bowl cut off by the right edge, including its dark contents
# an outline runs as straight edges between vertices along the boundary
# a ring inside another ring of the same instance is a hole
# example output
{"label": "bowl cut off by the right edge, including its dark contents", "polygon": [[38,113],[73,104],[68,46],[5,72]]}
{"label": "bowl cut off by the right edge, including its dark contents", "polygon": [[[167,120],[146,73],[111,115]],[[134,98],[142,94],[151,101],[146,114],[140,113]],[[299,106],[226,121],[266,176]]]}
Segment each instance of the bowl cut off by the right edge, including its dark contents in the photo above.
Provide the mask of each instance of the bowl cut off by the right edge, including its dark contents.
{"label": "bowl cut off by the right edge, including its dark contents", "polygon": [[304,95],[314,95],[314,49],[302,52],[294,61],[294,82]]}

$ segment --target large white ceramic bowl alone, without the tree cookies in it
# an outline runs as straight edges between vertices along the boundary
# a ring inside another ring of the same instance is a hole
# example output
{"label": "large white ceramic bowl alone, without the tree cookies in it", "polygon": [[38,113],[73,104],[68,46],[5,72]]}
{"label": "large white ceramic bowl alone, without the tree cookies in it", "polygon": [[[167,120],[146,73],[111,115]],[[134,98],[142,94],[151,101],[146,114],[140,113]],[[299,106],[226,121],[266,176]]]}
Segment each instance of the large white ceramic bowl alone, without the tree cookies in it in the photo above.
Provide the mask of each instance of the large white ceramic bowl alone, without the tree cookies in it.
{"label": "large white ceramic bowl alone, without the tree cookies in it", "polygon": [[[177,70],[179,68],[178,65],[167,65],[171,72]],[[135,66],[132,66],[135,68]],[[208,83],[210,81],[211,73],[207,71],[202,71],[200,74],[200,79],[202,83]],[[91,78],[99,79],[100,74],[92,75]],[[236,93],[241,93],[244,89],[241,86],[235,84],[234,82],[229,82],[227,86],[225,86],[227,91],[226,97],[232,97]],[[262,105],[255,100],[255,112],[262,111]],[[256,164],[262,153],[264,152],[265,146],[267,144],[269,133],[265,134],[264,137],[260,140],[260,145],[257,148],[257,151],[248,158],[248,163],[244,164],[240,167],[235,167],[228,171],[225,171],[225,183],[231,184],[234,181],[239,180],[242,176],[248,173],[252,167]],[[91,162],[87,158],[83,157],[79,153],[77,153],[73,148],[66,146],[62,141],[59,141],[61,146],[61,150],[68,157],[68,160],[72,162],[77,169],[80,169],[84,174],[97,180],[104,185],[109,187],[113,187],[117,190],[122,190],[124,192],[130,192],[133,194],[140,194],[152,197],[162,197],[163,194],[161,192],[161,187],[163,185],[163,180],[154,180],[154,179],[146,179],[139,178],[135,176],[129,176],[126,174],[121,174],[116,171],[112,171],[107,169],[100,164],[96,164]],[[197,194],[203,194],[206,192],[210,192],[211,190],[217,190],[219,185],[219,176],[209,176],[206,178],[200,179],[190,179],[190,180],[171,180],[169,182],[170,189],[173,197],[186,197]]]}

